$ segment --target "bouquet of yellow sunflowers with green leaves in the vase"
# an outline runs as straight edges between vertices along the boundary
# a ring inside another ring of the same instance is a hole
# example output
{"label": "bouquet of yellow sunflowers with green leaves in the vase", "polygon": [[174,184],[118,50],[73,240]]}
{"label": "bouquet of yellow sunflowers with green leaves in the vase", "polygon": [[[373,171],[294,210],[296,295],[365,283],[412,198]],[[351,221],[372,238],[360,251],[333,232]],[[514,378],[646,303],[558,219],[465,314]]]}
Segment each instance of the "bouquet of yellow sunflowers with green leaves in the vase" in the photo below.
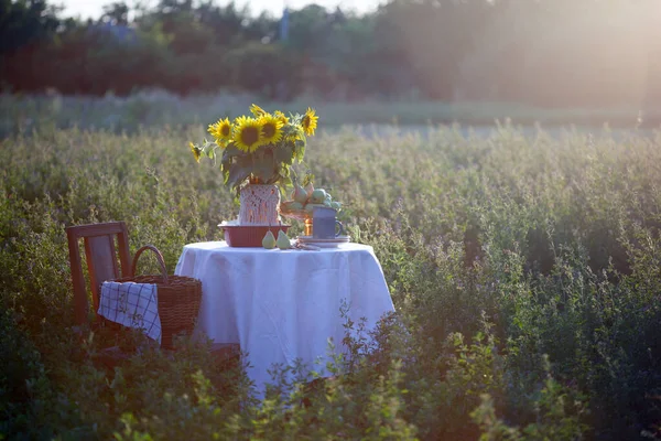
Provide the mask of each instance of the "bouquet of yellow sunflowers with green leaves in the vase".
{"label": "bouquet of yellow sunflowers with green leaves in the vase", "polygon": [[291,166],[303,161],[306,137],[314,136],[318,117],[311,108],[288,117],[254,104],[250,112],[209,125],[213,141],[205,139],[202,146],[189,142],[195,160],[219,158],[225,185],[237,193],[243,184],[291,185]]}

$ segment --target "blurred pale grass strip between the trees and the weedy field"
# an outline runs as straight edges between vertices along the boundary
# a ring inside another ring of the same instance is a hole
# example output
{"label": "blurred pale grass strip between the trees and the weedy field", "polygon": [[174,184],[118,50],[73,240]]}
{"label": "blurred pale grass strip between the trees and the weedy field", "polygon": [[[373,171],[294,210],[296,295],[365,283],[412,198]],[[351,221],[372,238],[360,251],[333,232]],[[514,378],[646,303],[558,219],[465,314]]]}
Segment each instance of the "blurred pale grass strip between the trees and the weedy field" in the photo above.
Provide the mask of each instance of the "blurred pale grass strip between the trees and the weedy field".
{"label": "blurred pale grass strip between the trees and the weedy field", "polygon": [[[181,98],[165,92],[144,92],[129,97],[102,98],[59,95],[12,96],[0,94],[0,137],[44,127],[136,131],[145,127],[206,125],[219,117],[242,115],[253,95],[199,95]],[[458,122],[464,127],[494,126],[511,120],[519,126],[654,129],[661,109],[641,104],[630,108],[540,108],[508,103],[437,103],[369,100],[327,103],[302,97],[293,103],[271,103],[264,108],[304,111],[313,106],[322,116],[322,129],[342,126],[436,126]]]}

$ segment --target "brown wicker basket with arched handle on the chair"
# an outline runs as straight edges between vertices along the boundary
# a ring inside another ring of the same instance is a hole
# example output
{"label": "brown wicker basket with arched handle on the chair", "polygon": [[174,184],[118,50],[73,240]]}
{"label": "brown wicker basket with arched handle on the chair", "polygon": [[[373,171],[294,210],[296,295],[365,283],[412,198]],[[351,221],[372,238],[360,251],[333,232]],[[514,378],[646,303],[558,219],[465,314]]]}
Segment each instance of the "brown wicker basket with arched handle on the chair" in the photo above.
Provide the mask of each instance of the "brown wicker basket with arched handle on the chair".
{"label": "brown wicker basket with arched handle on the chair", "polygon": [[[161,266],[161,276],[134,276],[138,258],[142,251],[150,249],[156,255]],[[191,335],[195,327],[199,302],[202,300],[202,281],[184,276],[167,276],[165,260],[161,251],[152,245],[140,248],[133,257],[132,277],[117,279],[117,282],[154,283],[159,290],[159,315],[161,318],[161,347],[172,348],[172,337],[180,333]]]}

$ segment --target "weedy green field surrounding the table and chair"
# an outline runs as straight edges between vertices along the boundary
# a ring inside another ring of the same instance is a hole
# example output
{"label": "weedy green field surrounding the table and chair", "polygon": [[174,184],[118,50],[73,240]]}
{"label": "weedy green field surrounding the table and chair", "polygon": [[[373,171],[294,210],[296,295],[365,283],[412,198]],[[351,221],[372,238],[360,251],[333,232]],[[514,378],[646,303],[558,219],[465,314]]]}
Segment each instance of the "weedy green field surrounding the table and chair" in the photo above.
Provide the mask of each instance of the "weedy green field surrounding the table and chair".
{"label": "weedy green field surrounding the table and chair", "polygon": [[218,170],[187,148],[207,117],[175,128],[145,107],[140,128],[66,98],[3,99],[6,439],[661,438],[661,132],[312,138],[306,163],[375,248],[397,315],[378,345],[350,342],[326,388],[274,380],[258,402],[240,369],[191,342],[107,373],[90,361],[107,336],[72,331],[66,226],[123,219],[131,251],[154,244],[172,271],[236,217]]}

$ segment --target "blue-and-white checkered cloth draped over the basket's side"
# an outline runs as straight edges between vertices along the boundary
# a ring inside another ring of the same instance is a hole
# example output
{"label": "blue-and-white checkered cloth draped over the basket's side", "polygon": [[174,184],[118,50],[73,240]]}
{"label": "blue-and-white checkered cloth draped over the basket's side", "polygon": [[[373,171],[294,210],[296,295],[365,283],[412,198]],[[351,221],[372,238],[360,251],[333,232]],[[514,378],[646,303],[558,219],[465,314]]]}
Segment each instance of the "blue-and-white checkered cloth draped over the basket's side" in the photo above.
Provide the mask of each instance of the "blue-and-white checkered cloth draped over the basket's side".
{"label": "blue-and-white checkered cloth draped over the basket's side", "polygon": [[128,327],[142,330],[161,344],[156,284],[104,282],[98,314]]}

